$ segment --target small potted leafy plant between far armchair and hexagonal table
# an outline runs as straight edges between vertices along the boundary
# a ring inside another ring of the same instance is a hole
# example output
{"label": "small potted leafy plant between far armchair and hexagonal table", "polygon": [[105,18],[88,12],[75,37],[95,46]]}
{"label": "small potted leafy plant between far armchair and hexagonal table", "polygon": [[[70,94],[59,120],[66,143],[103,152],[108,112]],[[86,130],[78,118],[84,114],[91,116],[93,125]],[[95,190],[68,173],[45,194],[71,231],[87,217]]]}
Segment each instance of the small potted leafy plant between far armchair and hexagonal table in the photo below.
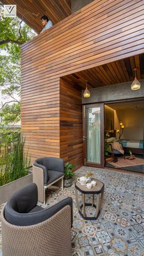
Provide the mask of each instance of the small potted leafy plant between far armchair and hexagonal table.
{"label": "small potted leafy plant between far armchair and hexagonal table", "polygon": [[65,170],[64,170],[64,186],[65,188],[70,187],[73,184],[73,172],[74,166],[73,164],[67,162],[65,163]]}

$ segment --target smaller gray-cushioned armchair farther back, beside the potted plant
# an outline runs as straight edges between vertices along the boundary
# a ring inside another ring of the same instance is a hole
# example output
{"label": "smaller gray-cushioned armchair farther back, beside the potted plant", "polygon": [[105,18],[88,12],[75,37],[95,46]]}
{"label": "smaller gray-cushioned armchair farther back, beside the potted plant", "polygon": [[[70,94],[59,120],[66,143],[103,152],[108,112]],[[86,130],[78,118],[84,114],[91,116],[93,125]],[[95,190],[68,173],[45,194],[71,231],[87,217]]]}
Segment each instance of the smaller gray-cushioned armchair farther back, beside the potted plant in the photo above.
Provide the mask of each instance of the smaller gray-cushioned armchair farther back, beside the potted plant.
{"label": "smaller gray-cushioned armchair farther back, beside the potted plant", "polygon": [[63,191],[64,162],[62,158],[44,157],[35,160],[33,181],[38,188],[38,201],[46,202],[46,189],[53,185],[61,186]]}

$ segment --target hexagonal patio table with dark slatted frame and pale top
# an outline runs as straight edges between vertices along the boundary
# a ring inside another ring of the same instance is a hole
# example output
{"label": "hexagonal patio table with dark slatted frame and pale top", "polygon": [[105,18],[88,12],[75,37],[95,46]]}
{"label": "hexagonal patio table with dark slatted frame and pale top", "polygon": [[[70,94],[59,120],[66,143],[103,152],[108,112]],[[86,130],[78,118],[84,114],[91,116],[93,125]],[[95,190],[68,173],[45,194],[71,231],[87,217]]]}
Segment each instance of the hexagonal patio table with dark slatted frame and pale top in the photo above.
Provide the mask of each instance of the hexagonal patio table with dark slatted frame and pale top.
{"label": "hexagonal patio table with dark slatted frame and pale top", "polygon": [[[81,185],[81,183],[79,183],[78,181],[75,183],[76,205],[79,210],[79,214],[82,216],[83,219],[87,219],[87,220],[95,220],[98,218],[98,215],[101,210],[101,204],[103,202],[103,196],[104,196],[104,183],[97,180],[96,178],[93,178],[93,180],[96,181],[96,186],[93,186],[91,189],[88,189],[84,185]],[[82,205],[79,205],[77,191],[80,191],[82,193]],[[93,195],[92,203],[85,203],[85,194]],[[95,194],[97,194],[97,199],[96,199],[96,203],[94,204]],[[95,207],[96,208],[95,216],[88,217],[85,213],[85,206]]]}

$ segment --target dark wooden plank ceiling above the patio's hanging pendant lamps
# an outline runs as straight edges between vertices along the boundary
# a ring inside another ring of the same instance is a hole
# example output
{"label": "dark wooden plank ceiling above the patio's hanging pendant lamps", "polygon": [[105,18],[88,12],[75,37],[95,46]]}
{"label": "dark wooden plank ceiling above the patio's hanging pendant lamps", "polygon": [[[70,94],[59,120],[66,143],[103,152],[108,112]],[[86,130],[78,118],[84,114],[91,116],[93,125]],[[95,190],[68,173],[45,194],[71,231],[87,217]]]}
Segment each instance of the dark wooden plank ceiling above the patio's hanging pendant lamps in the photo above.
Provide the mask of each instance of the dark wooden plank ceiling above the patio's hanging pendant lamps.
{"label": "dark wooden plank ceiling above the patio's hanging pendant lamps", "polygon": [[77,86],[78,84],[81,89],[85,88],[85,83],[88,81],[88,88],[91,89],[133,81],[135,75],[133,69],[135,67],[138,68],[137,79],[144,79],[144,54],[80,71],[65,76],[64,79],[71,82],[73,85]]}

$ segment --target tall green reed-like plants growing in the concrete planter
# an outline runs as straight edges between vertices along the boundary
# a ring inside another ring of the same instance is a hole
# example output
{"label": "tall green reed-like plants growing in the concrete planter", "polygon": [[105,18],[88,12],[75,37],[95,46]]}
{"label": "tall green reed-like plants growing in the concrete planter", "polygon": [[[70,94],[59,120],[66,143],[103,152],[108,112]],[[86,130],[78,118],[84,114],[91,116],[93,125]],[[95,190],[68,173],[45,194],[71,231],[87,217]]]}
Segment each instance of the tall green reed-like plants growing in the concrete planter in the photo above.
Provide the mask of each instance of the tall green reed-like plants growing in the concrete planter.
{"label": "tall green reed-like plants growing in the concrete planter", "polygon": [[1,130],[0,186],[27,175],[30,165],[30,159],[27,154],[24,155],[24,140],[21,134],[6,131],[3,127]]}

